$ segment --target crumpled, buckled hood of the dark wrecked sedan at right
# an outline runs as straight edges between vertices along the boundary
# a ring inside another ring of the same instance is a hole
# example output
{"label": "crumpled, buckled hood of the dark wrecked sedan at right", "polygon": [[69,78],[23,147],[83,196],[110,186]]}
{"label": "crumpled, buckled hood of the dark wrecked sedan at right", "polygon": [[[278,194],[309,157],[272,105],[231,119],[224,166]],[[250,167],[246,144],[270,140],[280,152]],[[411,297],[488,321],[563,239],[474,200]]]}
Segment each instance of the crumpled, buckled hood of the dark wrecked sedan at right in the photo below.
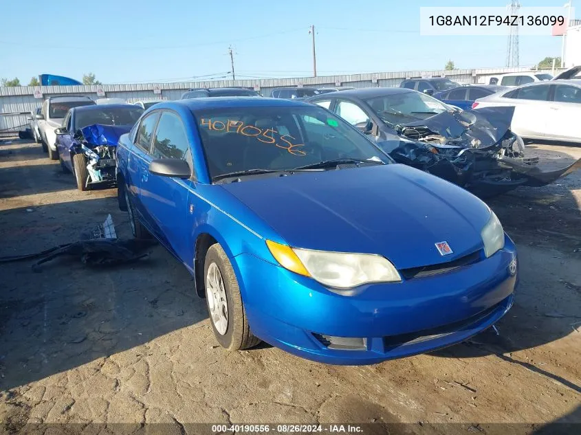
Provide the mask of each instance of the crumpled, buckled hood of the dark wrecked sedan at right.
{"label": "crumpled, buckled hood of the dark wrecked sedan at right", "polygon": [[[485,107],[479,110],[448,111],[425,120],[399,124],[398,133],[413,139],[406,129],[424,127],[443,136],[448,144],[487,148],[494,146],[510,129],[514,107]],[[459,142],[461,141],[461,142]],[[468,141],[468,142],[465,142]],[[471,143],[472,141],[472,143]]]}

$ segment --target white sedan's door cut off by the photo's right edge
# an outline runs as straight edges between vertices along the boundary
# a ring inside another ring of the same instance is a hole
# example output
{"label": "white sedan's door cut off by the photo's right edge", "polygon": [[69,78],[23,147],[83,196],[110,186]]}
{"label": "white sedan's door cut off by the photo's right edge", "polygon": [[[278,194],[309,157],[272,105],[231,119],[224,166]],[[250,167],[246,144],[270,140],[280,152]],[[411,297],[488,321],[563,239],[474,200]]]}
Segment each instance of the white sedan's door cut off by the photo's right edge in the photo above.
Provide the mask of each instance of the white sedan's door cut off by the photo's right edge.
{"label": "white sedan's door cut off by the photo's right edge", "polygon": [[553,85],[546,135],[558,140],[581,140],[581,87]]}

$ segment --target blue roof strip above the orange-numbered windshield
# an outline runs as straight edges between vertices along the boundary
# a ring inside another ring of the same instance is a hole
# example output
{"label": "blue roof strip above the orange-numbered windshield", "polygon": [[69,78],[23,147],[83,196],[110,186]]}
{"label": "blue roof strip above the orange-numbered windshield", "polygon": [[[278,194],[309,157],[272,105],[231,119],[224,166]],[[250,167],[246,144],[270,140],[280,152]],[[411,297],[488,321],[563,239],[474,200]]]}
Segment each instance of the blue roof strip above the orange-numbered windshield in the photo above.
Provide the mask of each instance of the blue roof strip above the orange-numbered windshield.
{"label": "blue roof strip above the orange-numbered windshield", "polygon": [[190,111],[196,111],[201,109],[229,109],[230,107],[285,107],[285,106],[311,107],[311,104],[296,100],[283,100],[282,98],[202,97],[162,102],[160,103],[160,106],[157,107],[157,109],[172,109],[175,107],[186,107],[187,109],[190,109]]}

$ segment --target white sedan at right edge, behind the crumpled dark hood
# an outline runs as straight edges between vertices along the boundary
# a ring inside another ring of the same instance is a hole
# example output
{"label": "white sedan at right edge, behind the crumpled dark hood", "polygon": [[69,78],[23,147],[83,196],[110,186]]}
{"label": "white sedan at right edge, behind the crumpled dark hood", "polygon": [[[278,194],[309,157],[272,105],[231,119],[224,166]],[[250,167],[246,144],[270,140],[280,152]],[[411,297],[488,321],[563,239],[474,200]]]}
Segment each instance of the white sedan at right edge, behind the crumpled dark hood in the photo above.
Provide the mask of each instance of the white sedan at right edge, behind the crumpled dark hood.
{"label": "white sedan at right edge, behind the crumpled dark hood", "polygon": [[479,98],[472,109],[514,106],[510,129],[527,139],[581,143],[581,80],[551,80]]}

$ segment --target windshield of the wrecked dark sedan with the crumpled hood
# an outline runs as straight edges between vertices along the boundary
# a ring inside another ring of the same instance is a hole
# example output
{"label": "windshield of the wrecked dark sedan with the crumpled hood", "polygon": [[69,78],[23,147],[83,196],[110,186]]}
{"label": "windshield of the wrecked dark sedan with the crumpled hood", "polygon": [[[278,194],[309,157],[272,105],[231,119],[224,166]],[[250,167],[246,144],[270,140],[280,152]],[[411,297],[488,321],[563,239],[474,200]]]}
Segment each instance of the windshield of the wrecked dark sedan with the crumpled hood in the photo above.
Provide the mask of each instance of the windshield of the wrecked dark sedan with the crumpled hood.
{"label": "windshield of the wrecked dark sedan with the crumpled hood", "polygon": [[413,91],[370,98],[366,103],[388,124],[425,120],[450,110],[435,98]]}

